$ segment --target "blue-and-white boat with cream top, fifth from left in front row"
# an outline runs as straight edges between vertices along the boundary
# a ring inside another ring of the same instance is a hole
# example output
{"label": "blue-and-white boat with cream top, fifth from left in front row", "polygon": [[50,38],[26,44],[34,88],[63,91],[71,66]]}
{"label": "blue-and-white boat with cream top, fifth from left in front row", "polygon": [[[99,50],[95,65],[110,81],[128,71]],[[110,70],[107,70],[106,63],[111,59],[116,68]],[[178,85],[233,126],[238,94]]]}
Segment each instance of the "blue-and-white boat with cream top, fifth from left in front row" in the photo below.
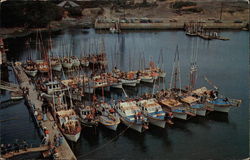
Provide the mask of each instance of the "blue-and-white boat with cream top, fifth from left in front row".
{"label": "blue-and-white boat with cream top, fifth from left in front row", "polygon": [[161,105],[156,101],[155,98],[141,99],[137,102],[137,105],[142,110],[142,113],[148,118],[149,123],[161,128],[165,128],[166,113],[162,110]]}

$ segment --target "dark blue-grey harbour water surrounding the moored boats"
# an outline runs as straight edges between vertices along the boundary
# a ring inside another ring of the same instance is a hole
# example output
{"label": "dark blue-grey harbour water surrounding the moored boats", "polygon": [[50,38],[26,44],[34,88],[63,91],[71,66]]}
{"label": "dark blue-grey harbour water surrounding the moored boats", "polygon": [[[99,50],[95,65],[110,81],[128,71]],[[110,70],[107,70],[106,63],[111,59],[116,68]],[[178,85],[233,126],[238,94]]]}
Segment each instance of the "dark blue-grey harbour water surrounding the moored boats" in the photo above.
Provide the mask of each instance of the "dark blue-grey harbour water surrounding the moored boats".
{"label": "dark blue-grey harbour water surrounding the moored boats", "polygon": [[[188,68],[192,49],[198,43],[197,87],[211,87],[204,80],[207,76],[225,96],[242,99],[239,108],[228,114],[210,113],[188,121],[175,120],[173,127],[165,129],[150,126],[145,133],[126,130],[120,125],[117,132],[104,127],[85,129],[77,144],[70,144],[79,159],[242,159],[248,157],[248,106],[249,106],[249,33],[222,32],[229,41],[205,41],[187,37],[182,31],[127,32],[121,35],[95,33],[83,34],[80,29],[71,29],[53,35],[53,54],[68,54],[73,45],[73,55],[98,52],[98,43],[103,40],[109,59],[109,70],[118,66],[123,70],[138,69],[152,59],[158,62],[163,53],[164,70],[167,72],[165,87],[168,87],[174,53],[178,45],[181,62],[182,86],[188,85]],[[45,36],[46,37],[46,36]],[[9,39],[9,59],[25,60],[31,51],[25,49],[24,41],[30,37]],[[35,36],[31,36],[35,41]],[[46,38],[45,38],[46,39]],[[100,46],[100,45],[99,45]],[[32,46],[35,49],[34,45]],[[32,57],[39,57],[32,54]],[[156,90],[163,83],[156,85]],[[130,96],[152,92],[152,85],[126,88]],[[121,97],[114,92],[111,97]],[[1,125],[1,140],[8,141],[19,136],[37,140],[28,111],[21,104],[1,110],[1,119],[15,116],[20,120]],[[5,117],[6,116],[6,117]],[[5,126],[5,127],[4,127]],[[6,128],[7,127],[7,128]],[[26,129],[29,128],[28,133]],[[125,132],[123,132],[126,130]],[[14,132],[14,133],[13,133]],[[123,133],[120,135],[120,133]]]}

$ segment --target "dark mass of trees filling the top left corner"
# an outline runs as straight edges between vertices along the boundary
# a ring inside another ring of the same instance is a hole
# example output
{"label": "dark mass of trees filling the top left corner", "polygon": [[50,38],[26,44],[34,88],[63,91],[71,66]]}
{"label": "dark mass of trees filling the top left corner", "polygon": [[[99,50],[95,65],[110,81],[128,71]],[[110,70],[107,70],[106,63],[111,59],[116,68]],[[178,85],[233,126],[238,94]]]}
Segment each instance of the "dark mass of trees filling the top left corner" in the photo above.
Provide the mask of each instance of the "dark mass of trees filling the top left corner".
{"label": "dark mass of trees filling the top left corner", "polygon": [[63,9],[51,2],[16,2],[2,4],[4,27],[46,27],[53,20],[60,20]]}

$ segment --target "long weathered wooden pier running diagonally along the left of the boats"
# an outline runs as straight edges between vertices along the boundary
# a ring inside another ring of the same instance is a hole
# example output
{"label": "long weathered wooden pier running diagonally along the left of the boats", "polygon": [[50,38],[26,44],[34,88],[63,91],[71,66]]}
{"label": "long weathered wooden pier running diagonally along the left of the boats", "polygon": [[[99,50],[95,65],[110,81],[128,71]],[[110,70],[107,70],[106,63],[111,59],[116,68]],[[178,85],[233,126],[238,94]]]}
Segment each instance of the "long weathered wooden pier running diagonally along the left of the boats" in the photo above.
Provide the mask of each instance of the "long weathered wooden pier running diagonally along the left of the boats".
{"label": "long weathered wooden pier running diagonally along the left of the boats", "polygon": [[[29,95],[25,97],[26,100],[30,104],[32,104],[36,110],[42,111],[42,101],[38,100],[39,93],[36,91],[35,86],[29,83],[30,79],[25,74],[25,72],[23,71],[20,65],[13,65],[12,67],[19,81],[20,87],[27,87],[29,90]],[[47,113],[47,117],[48,117],[47,121],[41,121],[41,126],[43,128],[46,127],[49,130],[49,139],[50,139],[50,142],[53,144],[54,135],[58,135],[61,132],[58,127],[54,127],[55,121],[49,112]],[[58,159],[76,160],[76,157],[73,151],[71,150],[71,148],[69,147],[69,144],[67,143],[65,138],[63,139],[62,145],[57,147],[57,151],[58,151]]]}

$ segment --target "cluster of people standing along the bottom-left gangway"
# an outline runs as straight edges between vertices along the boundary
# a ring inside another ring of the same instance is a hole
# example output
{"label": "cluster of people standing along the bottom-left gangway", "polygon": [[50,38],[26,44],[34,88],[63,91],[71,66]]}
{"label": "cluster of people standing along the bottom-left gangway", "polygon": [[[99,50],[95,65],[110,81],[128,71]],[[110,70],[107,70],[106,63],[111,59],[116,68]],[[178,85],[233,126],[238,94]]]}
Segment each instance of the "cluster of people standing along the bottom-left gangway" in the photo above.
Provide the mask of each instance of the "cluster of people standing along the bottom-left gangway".
{"label": "cluster of people standing along the bottom-left gangway", "polygon": [[14,144],[1,144],[1,154],[4,155],[10,152],[19,152],[20,149],[27,150],[28,144],[25,140],[19,141],[16,140]]}

